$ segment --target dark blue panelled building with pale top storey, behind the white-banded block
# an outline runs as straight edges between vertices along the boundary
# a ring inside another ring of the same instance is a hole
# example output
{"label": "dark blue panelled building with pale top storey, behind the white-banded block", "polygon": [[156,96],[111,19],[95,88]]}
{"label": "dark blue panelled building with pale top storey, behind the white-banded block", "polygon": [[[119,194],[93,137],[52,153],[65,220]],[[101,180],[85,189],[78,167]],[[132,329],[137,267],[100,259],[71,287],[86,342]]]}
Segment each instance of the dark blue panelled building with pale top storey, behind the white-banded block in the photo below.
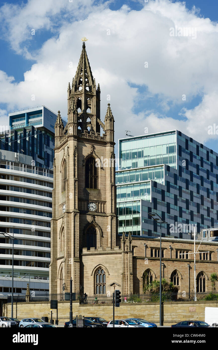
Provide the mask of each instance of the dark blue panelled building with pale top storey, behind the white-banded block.
{"label": "dark blue panelled building with pale top storey, behind the white-banded block", "polygon": [[0,135],[0,149],[32,156],[36,166],[51,169],[56,119],[45,106],[10,112],[9,132]]}

